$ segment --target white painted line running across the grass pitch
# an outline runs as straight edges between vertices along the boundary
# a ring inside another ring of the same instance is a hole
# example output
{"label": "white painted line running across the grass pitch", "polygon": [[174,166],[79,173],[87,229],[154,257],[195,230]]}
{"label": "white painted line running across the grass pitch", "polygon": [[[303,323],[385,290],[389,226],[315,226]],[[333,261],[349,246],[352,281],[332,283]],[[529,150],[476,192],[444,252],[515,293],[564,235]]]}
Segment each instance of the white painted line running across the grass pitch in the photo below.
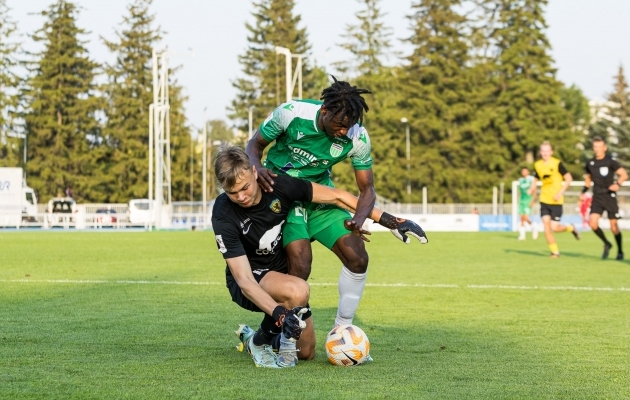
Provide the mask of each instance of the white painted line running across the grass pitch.
{"label": "white painted line running across the grass pitch", "polygon": [[[197,281],[146,281],[146,280],[101,280],[101,279],[0,279],[0,283],[68,283],[110,285],[225,285],[225,282]],[[310,282],[311,286],[337,286],[331,282]],[[587,292],[630,292],[630,288],[591,286],[519,286],[519,285],[457,285],[447,283],[366,283],[371,287],[440,288],[440,289],[501,289],[501,290],[565,290]]]}

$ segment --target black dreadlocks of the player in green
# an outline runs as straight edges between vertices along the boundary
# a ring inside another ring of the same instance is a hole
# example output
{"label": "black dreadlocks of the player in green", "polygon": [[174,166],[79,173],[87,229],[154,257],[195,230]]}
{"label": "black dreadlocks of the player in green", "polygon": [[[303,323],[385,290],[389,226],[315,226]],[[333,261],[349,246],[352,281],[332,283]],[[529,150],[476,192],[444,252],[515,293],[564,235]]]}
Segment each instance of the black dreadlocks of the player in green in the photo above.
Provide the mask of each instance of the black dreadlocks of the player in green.
{"label": "black dreadlocks of the player in green", "polygon": [[361,95],[372,92],[350,86],[348,82],[338,81],[334,76],[332,78],[335,82],[322,91],[320,98],[324,100],[324,107],[334,116],[339,114],[342,121],[348,117],[350,126],[357,122],[363,123],[363,110],[367,112],[369,107]]}

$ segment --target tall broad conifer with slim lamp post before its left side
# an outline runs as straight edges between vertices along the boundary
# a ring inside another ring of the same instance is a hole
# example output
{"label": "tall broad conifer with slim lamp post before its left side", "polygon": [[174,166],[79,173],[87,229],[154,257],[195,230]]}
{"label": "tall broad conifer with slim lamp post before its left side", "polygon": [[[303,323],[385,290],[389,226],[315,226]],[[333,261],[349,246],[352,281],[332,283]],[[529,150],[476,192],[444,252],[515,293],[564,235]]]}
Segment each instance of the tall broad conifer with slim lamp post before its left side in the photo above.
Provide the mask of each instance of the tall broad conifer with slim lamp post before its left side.
{"label": "tall broad conifer with slim lamp post before its left side", "polygon": [[[497,156],[492,136],[476,123],[482,99],[471,72],[470,23],[460,0],[420,0],[412,5],[414,50],[403,67],[400,117],[410,124],[412,198],[421,187],[430,201],[464,202],[487,196],[496,182]],[[394,137],[405,165],[405,137]],[[406,173],[405,173],[406,175]],[[403,195],[401,180],[397,199]],[[489,196],[487,196],[489,197]]]}

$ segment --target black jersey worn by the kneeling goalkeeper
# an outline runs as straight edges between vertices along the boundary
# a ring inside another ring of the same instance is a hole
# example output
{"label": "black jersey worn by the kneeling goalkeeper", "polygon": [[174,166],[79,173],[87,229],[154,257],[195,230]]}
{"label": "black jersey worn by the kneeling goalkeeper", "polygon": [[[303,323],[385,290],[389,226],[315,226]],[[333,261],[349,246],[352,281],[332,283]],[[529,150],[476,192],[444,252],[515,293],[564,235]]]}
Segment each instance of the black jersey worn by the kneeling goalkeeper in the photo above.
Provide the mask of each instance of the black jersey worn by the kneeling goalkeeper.
{"label": "black jersey worn by the kneeling goalkeeper", "polygon": [[[262,192],[252,207],[240,207],[221,194],[212,208],[212,229],[223,258],[247,256],[252,270],[286,269],[282,228],[294,201],[312,199],[310,182],[287,175],[274,178],[273,192]],[[229,268],[226,273],[231,275]]]}

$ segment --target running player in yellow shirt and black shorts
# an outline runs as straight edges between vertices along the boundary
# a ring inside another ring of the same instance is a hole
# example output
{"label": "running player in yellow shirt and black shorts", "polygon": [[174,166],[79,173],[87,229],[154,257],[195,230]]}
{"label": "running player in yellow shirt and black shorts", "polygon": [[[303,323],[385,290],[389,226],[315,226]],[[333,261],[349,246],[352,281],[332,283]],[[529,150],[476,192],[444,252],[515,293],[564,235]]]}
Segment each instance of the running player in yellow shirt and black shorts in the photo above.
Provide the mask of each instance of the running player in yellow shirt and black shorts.
{"label": "running player in yellow shirt and black shorts", "polygon": [[540,145],[540,157],[534,163],[534,180],[530,188],[530,194],[536,192],[537,183],[542,182],[540,190],[540,217],[545,228],[545,238],[551,250],[551,257],[558,258],[560,250],[558,243],[553,236],[554,232],[571,232],[576,239],[580,239],[580,234],[573,225],[560,224],[562,217],[562,205],[564,204],[564,192],[573,181],[571,174],[564,167],[562,162],[553,155],[553,148],[547,141]]}

